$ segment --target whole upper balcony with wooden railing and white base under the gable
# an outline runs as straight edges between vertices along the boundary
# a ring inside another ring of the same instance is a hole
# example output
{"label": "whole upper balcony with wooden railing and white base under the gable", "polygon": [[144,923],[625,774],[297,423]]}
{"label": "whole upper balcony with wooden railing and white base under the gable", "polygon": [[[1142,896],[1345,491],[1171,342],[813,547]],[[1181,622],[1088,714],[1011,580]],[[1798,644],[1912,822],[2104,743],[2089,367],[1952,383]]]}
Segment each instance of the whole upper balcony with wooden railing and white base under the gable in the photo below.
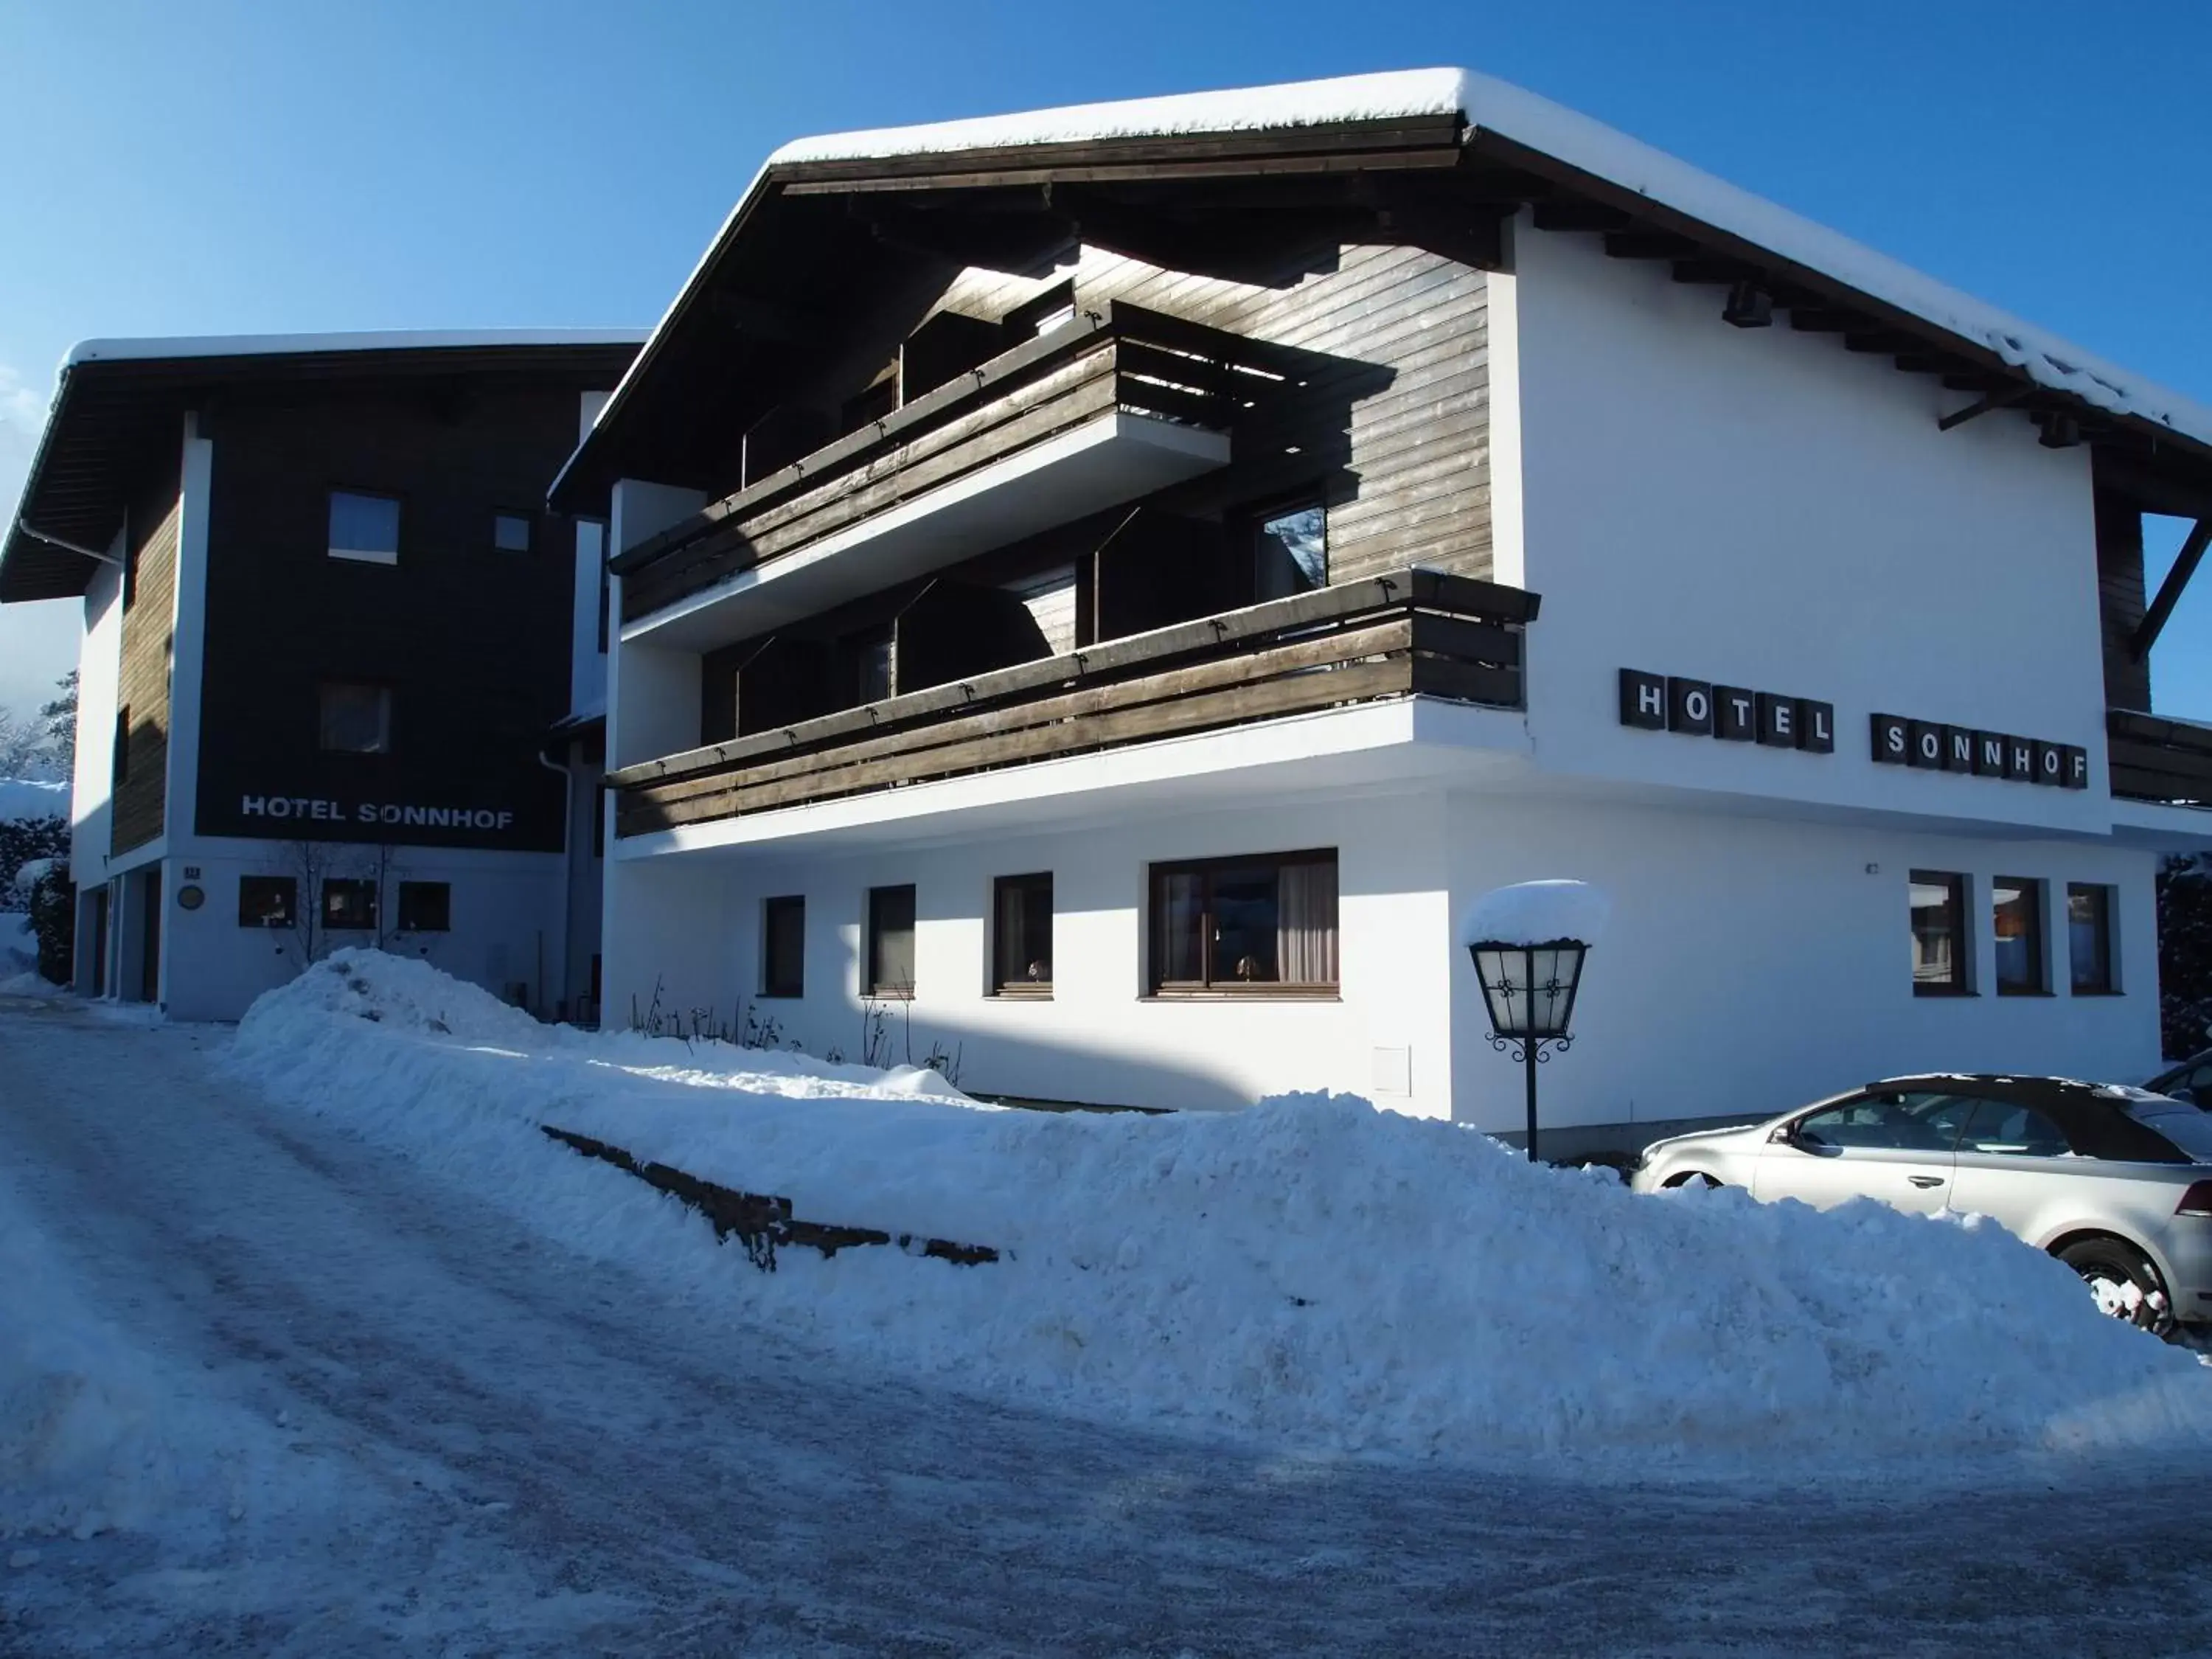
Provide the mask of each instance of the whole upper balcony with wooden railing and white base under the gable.
{"label": "whole upper balcony with wooden railing and white base under the gable", "polygon": [[624,639],[708,650],[1223,467],[1307,356],[1108,303],[619,555]]}

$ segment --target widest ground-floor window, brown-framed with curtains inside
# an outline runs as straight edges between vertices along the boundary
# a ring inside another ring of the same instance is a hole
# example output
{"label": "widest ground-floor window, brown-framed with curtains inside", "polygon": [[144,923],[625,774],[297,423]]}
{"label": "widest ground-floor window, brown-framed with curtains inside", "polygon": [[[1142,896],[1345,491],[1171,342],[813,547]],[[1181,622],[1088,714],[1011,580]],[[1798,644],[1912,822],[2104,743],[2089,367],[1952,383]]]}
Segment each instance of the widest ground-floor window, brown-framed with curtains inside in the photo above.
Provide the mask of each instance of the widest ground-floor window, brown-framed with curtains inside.
{"label": "widest ground-floor window, brown-framed with curtains inside", "polygon": [[1152,865],[1152,995],[1334,991],[1336,852]]}

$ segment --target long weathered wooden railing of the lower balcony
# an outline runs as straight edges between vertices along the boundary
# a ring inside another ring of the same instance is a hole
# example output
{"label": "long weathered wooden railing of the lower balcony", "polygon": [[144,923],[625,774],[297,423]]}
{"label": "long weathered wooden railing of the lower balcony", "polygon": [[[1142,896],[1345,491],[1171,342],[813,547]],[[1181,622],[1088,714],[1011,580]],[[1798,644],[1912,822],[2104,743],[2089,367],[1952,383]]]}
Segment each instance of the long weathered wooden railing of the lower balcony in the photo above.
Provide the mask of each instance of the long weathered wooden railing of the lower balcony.
{"label": "long weathered wooden railing of the lower balcony", "polygon": [[615,834],[1396,697],[1522,706],[1537,595],[1440,571],[1181,622],[608,776]]}

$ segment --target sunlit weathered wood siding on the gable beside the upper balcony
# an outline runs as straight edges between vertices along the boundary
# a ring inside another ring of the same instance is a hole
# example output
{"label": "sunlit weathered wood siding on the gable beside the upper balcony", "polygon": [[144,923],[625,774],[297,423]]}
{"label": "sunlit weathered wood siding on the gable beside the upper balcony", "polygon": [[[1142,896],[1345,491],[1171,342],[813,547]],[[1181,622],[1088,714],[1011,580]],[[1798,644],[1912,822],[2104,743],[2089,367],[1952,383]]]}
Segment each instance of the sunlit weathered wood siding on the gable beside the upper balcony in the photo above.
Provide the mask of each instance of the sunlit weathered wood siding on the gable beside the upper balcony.
{"label": "sunlit weathered wood siding on the gable beside the upper balcony", "polygon": [[[969,270],[940,305],[995,319],[1057,281],[1064,274],[1031,281]],[[1086,248],[1075,301],[1108,299],[1340,365],[1336,385],[1310,385],[1241,431],[1232,467],[1175,491],[1179,511],[1219,513],[1323,482],[1332,582],[1402,564],[1491,575],[1489,279],[1480,268],[1425,248],[1316,243],[1279,285],[1256,285]]]}

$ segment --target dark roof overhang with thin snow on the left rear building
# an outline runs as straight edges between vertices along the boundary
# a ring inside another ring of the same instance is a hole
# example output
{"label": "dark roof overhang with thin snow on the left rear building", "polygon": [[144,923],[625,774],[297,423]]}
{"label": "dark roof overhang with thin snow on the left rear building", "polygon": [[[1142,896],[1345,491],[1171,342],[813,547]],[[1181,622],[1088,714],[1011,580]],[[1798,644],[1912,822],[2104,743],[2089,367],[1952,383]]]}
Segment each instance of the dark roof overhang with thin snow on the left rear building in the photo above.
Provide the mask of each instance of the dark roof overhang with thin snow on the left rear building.
{"label": "dark roof overhang with thin snow on the left rear building", "polygon": [[476,376],[604,387],[641,338],[491,330],[86,341],[62,361],[15,522],[0,544],[0,604],[82,595],[122,526],[133,478],[161,447],[181,442],[186,409],[226,387]]}

